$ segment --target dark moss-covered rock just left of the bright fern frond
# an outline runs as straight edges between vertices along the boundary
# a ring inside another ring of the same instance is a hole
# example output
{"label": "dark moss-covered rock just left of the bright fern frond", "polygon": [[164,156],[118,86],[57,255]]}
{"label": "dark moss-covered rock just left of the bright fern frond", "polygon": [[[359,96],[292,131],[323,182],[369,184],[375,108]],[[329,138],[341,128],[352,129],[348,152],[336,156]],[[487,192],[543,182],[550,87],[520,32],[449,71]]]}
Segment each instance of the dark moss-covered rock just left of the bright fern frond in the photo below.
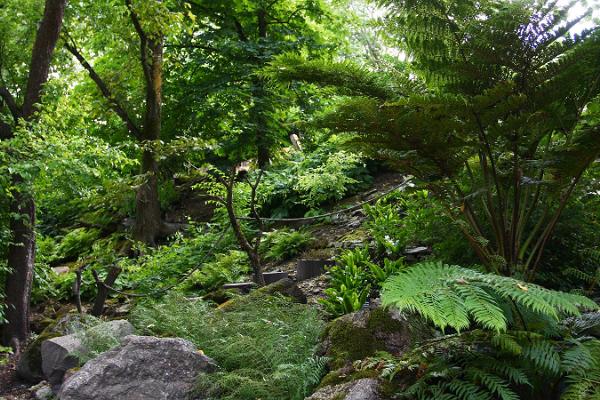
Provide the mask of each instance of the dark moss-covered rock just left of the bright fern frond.
{"label": "dark moss-covered rock just left of the bright fern frond", "polygon": [[409,321],[381,307],[363,309],[332,321],[325,330],[324,353],[332,369],[373,356],[402,354],[413,342]]}

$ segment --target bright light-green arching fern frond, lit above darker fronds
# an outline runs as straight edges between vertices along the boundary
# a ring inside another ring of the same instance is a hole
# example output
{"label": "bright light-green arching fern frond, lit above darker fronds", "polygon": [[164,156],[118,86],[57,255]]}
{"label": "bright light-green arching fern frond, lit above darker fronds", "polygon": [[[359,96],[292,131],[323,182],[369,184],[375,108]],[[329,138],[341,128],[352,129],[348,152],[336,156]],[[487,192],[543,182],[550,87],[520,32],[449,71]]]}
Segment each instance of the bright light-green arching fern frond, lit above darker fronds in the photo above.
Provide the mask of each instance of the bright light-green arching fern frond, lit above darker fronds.
{"label": "bright light-green arching fern frond, lit above darker fronds", "polygon": [[383,286],[382,301],[418,313],[440,329],[457,331],[475,322],[503,332],[512,322],[526,323],[519,320],[523,311],[558,320],[579,315],[580,308],[598,308],[585,296],[441,262],[424,262],[391,277]]}

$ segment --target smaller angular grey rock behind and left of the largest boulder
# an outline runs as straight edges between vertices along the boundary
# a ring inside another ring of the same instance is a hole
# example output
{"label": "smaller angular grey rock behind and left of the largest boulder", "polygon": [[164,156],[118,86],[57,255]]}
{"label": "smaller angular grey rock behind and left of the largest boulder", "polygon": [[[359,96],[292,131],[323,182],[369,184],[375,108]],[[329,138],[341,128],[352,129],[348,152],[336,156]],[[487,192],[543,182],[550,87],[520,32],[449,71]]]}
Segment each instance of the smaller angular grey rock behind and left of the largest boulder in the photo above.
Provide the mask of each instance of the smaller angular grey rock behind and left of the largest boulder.
{"label": "smaller angular grey rock behind and left of the largest boulder", "polygon": [[42,372],[48,382],[56,387],[65,372],[79,364],[78,356],[89,351],[86,341],[111,339],[118,342],[135,329],[128,321],[115,320],[98,324],[85,332],[47,339],[41,345]]}

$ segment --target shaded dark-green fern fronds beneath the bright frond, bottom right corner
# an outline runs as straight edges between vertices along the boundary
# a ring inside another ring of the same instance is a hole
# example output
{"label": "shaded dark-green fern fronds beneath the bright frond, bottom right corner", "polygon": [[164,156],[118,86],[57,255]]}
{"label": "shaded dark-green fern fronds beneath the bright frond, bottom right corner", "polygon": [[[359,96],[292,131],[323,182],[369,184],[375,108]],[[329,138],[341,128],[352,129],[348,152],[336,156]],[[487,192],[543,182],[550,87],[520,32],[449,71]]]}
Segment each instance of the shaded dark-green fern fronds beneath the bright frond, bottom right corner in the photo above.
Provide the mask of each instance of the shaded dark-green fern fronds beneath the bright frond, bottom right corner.
{"label": "shaded dark-green fern fronds beneath the bright frond, bottom right corner", "polygon": [[399,398],[592,400],[600,396],[600,341],[474,330],[425,343],[386,373],[413,377]]}

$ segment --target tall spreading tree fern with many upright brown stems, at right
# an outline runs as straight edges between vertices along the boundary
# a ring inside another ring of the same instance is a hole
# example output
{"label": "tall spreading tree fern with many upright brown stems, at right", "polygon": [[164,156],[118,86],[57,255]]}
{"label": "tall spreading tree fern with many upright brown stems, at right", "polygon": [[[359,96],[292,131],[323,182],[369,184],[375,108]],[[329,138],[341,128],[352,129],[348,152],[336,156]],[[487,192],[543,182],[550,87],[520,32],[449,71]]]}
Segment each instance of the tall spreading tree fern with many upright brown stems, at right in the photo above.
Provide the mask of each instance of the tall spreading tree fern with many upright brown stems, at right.
{"label": "tall spreading tree fern with many upright brown stems, at right", "polygon": [[[600,155],[600,32],[535,1],[381,1],[406,73],[285,57],[283,81],[343,87],[322,125],[419,178],[491,271],[533,278]],[[308,77],[308,78],[307,78]]]}

